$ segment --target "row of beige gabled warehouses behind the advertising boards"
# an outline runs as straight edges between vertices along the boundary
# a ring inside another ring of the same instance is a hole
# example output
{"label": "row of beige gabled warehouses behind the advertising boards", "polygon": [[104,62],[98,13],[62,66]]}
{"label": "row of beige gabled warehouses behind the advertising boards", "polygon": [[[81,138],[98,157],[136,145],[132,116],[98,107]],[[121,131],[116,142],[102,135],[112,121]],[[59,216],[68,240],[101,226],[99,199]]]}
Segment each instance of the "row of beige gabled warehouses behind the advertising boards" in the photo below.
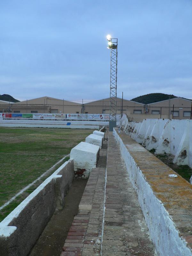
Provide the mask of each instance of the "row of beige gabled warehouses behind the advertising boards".
{"label": "row of beige gabled warehouses behind the advertising boards", "polygon": [[[80,104],[52,97],[41,97],[21,102],[0,100],[1,113],[69,113],[69,114],[109,114],[110,98]],[[174,105],[174,111],[173,111]],[[163,100],[142,104],[123,99],[123,113],[130,121],[141,121],[145,118],[190,119],[192,101],[183,98]],[[117,98],[117,114],[122,111],[122,99]]]}

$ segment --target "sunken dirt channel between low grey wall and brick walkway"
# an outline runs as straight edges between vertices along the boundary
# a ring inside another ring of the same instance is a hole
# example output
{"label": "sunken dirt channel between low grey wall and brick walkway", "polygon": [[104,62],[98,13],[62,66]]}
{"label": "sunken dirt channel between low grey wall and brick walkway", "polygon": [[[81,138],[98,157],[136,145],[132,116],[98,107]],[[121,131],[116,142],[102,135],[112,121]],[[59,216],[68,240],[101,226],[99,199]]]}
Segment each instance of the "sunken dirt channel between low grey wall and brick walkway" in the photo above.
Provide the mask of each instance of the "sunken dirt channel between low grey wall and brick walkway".
{"label": "sunken dirt channel between low grey wall and brick walkway", "polygon": [[53,214],[28,256],[60,256],[86,183],[86,179],[74,179],[65,197],[64,209]]}

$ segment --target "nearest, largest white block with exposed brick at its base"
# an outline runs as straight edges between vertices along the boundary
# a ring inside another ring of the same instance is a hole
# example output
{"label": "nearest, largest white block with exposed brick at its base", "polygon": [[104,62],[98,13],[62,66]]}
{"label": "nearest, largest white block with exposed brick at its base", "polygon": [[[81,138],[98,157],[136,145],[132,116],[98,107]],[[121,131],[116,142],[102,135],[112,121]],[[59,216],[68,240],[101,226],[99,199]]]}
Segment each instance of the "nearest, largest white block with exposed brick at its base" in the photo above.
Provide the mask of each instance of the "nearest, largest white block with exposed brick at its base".
{"label": "nearest, largest white block with exposed brick at its base", "polygon": [[70,158],[74,159],[75,176],[88,178],[92,168],[96,167],[100,147],[87,142],[80,142],[71,149]]}

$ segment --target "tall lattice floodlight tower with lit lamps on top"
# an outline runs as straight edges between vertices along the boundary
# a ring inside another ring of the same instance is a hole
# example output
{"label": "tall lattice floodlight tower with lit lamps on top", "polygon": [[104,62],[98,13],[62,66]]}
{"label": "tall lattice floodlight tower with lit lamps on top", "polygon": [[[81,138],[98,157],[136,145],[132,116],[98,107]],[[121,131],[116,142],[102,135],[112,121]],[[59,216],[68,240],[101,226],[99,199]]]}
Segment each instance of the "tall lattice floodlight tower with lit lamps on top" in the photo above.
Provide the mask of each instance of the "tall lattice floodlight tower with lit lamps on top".
{"label": "tall lattice floodlight tower with lit lamps on top", "polygon": [[110,75],[110,106],[109,131],[116,127],[116,99],[117,99],[117,38],[107,36],[108,49],[111,49],[111,75]]}

